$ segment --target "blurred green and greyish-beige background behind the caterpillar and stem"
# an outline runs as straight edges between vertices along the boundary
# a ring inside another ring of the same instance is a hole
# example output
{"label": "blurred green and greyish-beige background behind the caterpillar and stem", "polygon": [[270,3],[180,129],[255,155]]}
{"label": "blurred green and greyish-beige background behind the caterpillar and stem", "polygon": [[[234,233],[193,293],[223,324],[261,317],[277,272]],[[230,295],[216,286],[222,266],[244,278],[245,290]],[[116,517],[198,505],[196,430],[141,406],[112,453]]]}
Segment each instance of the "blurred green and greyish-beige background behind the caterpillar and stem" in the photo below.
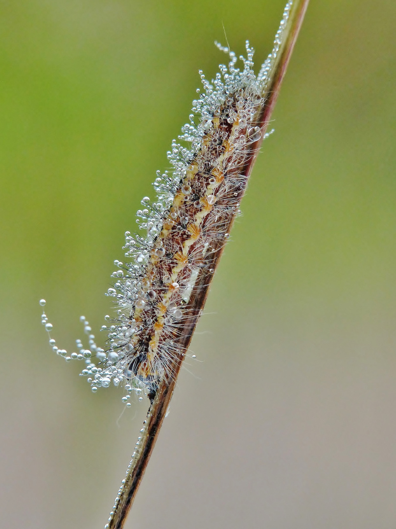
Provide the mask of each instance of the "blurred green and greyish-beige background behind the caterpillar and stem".
{"label": "blurred green and greyish-beige background behind the caterpillar and stem", "polygon": [[[8,529],[103,527],[148,402],[49,348],[98,331],[197,71],[283,0],[0,2]],[[396,526],[396,3],[312,1],[126,529]],[[98,335],[99,333],[96,332]]]}

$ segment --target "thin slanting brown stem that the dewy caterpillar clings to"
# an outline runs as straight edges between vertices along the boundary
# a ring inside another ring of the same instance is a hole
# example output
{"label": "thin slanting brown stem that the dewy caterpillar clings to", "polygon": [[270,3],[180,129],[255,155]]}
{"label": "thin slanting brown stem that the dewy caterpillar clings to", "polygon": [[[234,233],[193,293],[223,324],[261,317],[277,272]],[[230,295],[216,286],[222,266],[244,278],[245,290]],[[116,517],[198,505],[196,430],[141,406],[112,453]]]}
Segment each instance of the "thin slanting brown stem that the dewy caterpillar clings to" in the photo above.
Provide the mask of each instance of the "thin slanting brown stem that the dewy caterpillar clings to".
{"label": "thin slanting brown stem that the dewy caterpillar clings to", "polygon": [[[259,115],[259,123],[261,125],[262,136],[261,139],[251,145],[250,151],[246,158],[243,174],[250,175],[257,152],[260,148],[265,130],[268,126],[272,110],[279,94],[279,90],[286,73],[286,69],[291,57],[291,53],[296,43],[301,24],[307,10],[309,0],[294,0],[286,28],[282,33],[282,42],[277,53],[277,57],[271,63],[271,70],[269,74],[269,81],[264,89],[265,103],[261,108]],[[242,198],[245,189],[240,191]],[[234,217],[229,222],[228,232],[232,227]],[[135,499],[136,492],[139,489],[144,471],[149,462],[150,455],[154,448],[156,439],[158,437],[163,419],[167,413],[170,400],[173,395],[174,387],[176,386],[177,377],[181,368],[181,364],[188,350],[191,342],[192,334],[199,320],[202,307],[205,305],[206,297],[208,295],[210,281],[213,278],[213,270],[216,269],[218,261],[221,257],[224,245],[219,245],[218,251],[215,251],[208,257],[207,266],[199,278],[199,283],[195,285],[196,295],[190,299],[187,309],[185,321],[187,322],[181,331],[178,344],[180,351],[183,351],[174,360],[174,365],[171,368],[171,376],[164,379],[161,386],[155,393],[153,402],[150,406],[148,416],[144,423],[144,428],[139,441],[136,444],[135,452],[132,456],[130,466],[127,469],[126,477],[118,491],[116,503],[112,513],[110,513],[109,523],[106,525],[108,529],[122,529],[128,512]]]}

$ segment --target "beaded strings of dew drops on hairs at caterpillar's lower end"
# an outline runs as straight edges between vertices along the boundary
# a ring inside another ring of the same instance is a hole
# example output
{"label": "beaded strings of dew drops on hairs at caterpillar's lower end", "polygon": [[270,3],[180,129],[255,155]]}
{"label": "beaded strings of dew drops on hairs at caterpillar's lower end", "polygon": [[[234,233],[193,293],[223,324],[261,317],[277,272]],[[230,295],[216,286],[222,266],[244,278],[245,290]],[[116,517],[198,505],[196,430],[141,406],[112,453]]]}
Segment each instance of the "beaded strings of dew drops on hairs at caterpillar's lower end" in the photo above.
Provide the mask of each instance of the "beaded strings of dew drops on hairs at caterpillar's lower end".
{"label": "beaded strings of dew drops on hairs at caterpillar's lower end", "polygon": [[[42,307],[45,306],[45,299],[40,299],[40,305]],[[105,317],[106,320],[110,319],[110,316]],[[71,362],[71,360],[84,360],[85,361],[85,368],[81,370],[80,376],[81,377],[88,377],[87,382],[91,385],[91,390],[93,393],[96,393],[99,387],[108,387],[110,385],[110,378],[104,377],[102,375],[104,369],[101,367],[98,367],[97,364],[93,362],[93,352],[95,353],[95,357],[98,359],[99,366],[100,364],[105,364],[106,362],[106,370],[110,369],[113,375],[113,384],[114,386],[118,386],[119,383],[126,377],[125,377],[125,370],[124,369],[117,369],[116,366],[114,366],[114,363],[119,360],[119,353],[116,353],[114,351],[109,351],[106,355],[104,349],[97,346],[95,343],[95,335],[92,334],[92,329],[89,325],[89,322],[87,321],[85,316],[80,316],[80,322],[84,325],[84,332],[88,335],[89,340],[89,348],[85,349],[84,345],[82,344],[82,341],[80,339],[76,340],[76,346],[78,352],[72,352],[71,354],[68,354],[66,349],[60,349],[56,345],[56,340],[54,338],[51,338],[51,331],[53,330],[52,323],[49,323],[48,317],[45,314],[45,311],[43,309],[43,313],[41,315],[41,323],[45,327],[45,331],[47,331],[49,336],[49,343],[52,348],[52,351],[56,353],[58,356],[65,359],[66,362]],[[102,326],[102,330],[107,329],[106,325]],[[143,388],[139,387],[139,382],[135,379],[133,380],[133,384],[126,384],[125,385],[125,391],[126,394],[122,397],[122,402],[126,404],[126,406],[129,408],[131,407],[131,403],[128,402],[130,400],[132,391],[136,393],[136,396],[139,400],[143,400]]]}

